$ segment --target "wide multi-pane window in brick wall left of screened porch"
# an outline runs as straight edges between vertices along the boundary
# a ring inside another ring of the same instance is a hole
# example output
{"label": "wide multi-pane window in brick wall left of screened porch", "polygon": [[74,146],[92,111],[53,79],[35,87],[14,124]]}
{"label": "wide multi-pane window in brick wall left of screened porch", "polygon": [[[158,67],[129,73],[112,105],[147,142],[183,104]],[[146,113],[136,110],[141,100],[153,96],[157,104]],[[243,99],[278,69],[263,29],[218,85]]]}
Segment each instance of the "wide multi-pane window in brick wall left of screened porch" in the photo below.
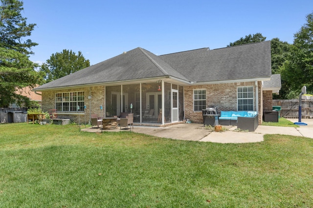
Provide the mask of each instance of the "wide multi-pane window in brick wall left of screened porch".
{"label": "wide multi-pane window in brick wall left of screened porch", "polygon": [[84,92],[68,92],[55,94],[55,109],[57,111],[84,111]]}

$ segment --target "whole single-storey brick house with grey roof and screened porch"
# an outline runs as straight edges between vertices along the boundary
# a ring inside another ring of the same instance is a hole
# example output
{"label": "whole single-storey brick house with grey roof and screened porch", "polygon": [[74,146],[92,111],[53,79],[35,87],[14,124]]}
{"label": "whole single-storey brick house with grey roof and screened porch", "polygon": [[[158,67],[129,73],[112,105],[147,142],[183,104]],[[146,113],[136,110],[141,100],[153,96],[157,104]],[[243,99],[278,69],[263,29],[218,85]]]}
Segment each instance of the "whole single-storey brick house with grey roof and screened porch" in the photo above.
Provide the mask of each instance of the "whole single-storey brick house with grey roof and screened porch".
{"label": "whole single-storey brick house with grey roof and screened porch", "polygon": [[137,125],[202,123],[201,110],[214,106],[257,111],[262,123],[263,83],[270,79],[270,41],[161,56],[138,47],[34,91],[42,92],[44,111],[75,122],[132,111]]}

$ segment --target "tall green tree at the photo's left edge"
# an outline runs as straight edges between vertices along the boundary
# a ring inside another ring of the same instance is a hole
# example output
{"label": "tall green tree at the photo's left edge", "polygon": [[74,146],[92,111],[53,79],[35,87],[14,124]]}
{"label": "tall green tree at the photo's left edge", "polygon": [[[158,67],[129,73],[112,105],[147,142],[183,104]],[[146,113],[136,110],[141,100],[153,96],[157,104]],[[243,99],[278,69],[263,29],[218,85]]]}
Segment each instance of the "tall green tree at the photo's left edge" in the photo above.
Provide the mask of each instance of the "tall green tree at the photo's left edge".
{"label": "tall green tree at the photo's left edge", "polygon": [[0,5],[0,107],[12,103],[29,103],[27,97],[15,92],[26,86],[41,83],[41,76],[35,71],[37,66],[28,58],[31,47],[37,45],[30,39],[35,24],[26,24],[21,15],[22,1],[1,0]]}

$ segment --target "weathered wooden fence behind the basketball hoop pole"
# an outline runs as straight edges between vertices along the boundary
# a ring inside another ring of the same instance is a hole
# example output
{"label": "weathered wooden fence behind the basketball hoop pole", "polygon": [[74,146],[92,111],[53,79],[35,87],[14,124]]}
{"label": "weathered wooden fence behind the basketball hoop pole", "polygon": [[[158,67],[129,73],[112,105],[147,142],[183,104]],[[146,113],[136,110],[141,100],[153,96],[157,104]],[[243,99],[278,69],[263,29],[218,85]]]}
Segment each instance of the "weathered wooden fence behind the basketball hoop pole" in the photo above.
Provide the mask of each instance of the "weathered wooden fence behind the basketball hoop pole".
{"label": "weathered wooden fence behind the basketball hoop pole", "polygon": [[[311,98],[311,99],[310,99]],[[299,117],[299,99],[273,100],[273,106],[281,106],[280,116],[285,118]],[[301,117],[313,118],[313,97],[302,96]]]}

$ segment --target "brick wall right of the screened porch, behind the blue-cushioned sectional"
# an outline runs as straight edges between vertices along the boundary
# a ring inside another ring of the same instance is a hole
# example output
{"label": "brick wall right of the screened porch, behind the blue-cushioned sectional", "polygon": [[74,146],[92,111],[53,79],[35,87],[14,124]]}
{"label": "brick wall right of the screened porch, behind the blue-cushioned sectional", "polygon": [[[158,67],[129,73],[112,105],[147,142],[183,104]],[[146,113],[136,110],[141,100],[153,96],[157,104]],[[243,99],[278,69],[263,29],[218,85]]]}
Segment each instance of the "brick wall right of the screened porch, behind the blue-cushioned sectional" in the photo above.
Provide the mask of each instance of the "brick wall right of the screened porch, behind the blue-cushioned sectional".
{"label": "brick wall right of the screened porch, behind the blue-cushioned sectional", "polygon": [[[241,83],[225,83],[225,84],[210,84],[210,85],[197,85],[186,86],[184,88],[184,113],[185,118],[190,119],[194,123],[202,123],[202,112],[194,112],[193,110],[193,90],[205,89],[206,90],[206,107],[217,107],[218,112],[221,111],[237,111],[237,87],[253,86],[253,96],[255,97],[255,82],[241,82]],[[259,115],[262,109],[262,83],[258,82],[259,86]],[[261,86],[261,87],[260,87]],[[254,101],[254,111],[256,103]],[[261,117],[261,118],[260,118]],[[259,116],[259,123],[262,123],[262,115]]]}

